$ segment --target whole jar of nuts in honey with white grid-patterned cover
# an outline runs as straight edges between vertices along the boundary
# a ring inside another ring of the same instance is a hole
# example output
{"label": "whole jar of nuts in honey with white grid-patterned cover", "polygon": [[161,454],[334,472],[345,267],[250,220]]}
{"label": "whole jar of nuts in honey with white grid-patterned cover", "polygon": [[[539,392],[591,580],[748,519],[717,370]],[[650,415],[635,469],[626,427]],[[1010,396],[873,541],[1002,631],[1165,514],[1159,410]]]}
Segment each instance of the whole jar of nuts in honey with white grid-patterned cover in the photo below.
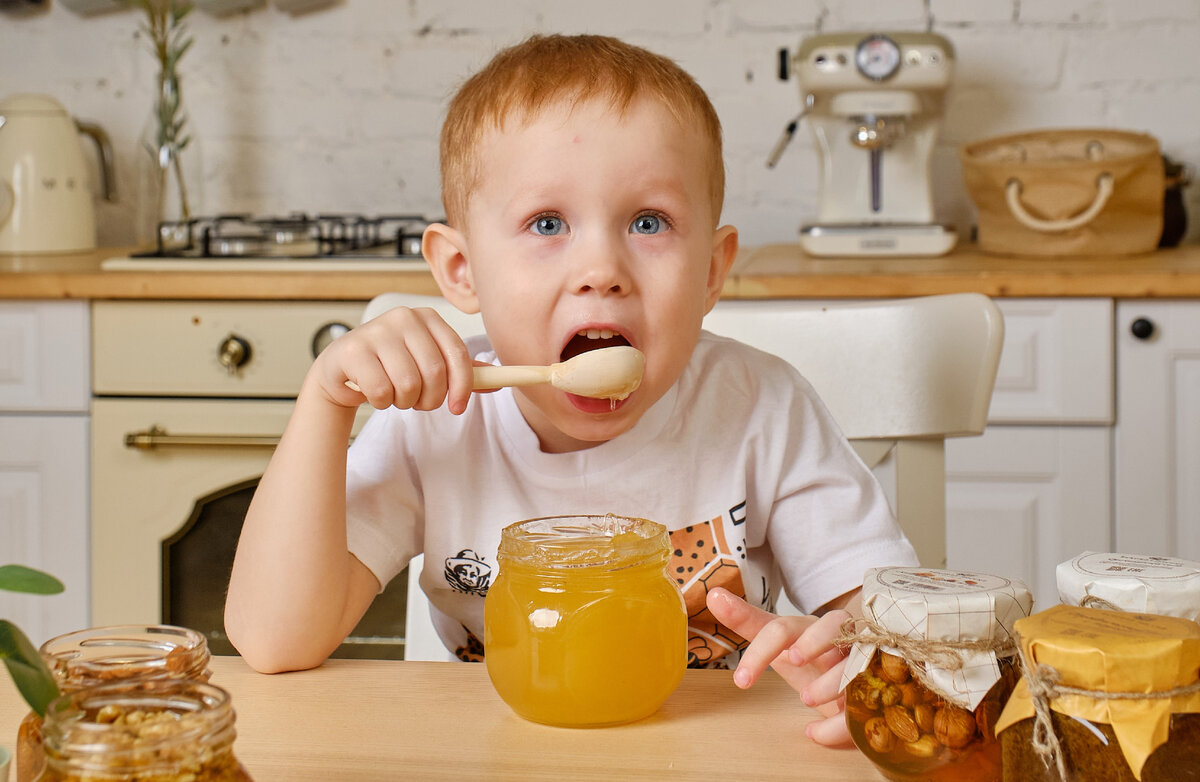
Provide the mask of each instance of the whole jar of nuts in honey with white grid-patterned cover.
{"label": "whole jar of nuts in honey with white grid-patterned cover", "polygon": [[863,581],[842,687],[859,750],[896,782],[998,782],[995,724],[1019,678],[1013,625],[1033,607],[1019,581],[883,567]]}

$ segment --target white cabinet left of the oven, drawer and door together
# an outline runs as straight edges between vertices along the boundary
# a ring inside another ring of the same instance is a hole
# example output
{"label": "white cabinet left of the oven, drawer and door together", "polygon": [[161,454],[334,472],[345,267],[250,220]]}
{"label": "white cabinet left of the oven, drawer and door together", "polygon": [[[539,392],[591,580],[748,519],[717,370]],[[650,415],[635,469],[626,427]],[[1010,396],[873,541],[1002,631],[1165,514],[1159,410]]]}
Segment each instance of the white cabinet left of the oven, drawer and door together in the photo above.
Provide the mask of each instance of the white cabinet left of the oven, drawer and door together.
{"label": "white cabinet left of the oven, drawer and door together", "polygon": [[89,344],[85,301],[0,302],[0,564],[66,586],[0,591],[0,616],[35,644],[89,625]]}

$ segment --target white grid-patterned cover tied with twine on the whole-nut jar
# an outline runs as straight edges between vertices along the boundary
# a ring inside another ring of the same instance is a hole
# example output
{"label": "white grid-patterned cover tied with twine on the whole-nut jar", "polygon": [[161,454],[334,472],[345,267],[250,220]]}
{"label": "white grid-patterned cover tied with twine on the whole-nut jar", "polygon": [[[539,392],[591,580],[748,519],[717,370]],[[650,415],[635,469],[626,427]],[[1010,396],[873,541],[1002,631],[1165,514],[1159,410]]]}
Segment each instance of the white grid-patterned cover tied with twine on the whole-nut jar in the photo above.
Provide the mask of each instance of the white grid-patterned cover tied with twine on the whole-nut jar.
{"label": "white grid-patterned cover tied with twine on the whole-nut jar", "polygon": [[940,694],[973,710],[1000,681],[998,658],[1013,652],[1013,625],[1032,609],[1028,586],[1012,578],[920,567],[869,570],[863,578],[865,630],[851,646],[841,688],[866,669],[877,648],[907,656],[889,648],[889,637],[916,644],[980,642],[978,649],[954,655],[961,666],[925,666]]}

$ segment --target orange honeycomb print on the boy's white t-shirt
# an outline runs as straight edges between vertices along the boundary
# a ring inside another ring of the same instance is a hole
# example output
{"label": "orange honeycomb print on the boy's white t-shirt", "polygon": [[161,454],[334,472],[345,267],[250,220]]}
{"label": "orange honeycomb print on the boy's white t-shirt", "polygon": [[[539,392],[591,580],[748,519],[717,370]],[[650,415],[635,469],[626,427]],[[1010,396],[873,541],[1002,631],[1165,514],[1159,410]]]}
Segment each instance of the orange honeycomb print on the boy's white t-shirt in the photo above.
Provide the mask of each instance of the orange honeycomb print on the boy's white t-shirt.
{"label": "orange honeycomb print on the boy's white t-shirt", "polygon": [[[731,510],[734,523],[738,518],[736,513],[744,505]],[[742,571],[726,542],[719,516],[671,533],[671,548],[667,573],[679,584],[688,607],[688,667],[704,668],[746,645],[744,638],[716,621],[706,603],[708,591],[714,586],[724,586],[738,597],[745,597]],[[745,545],[738,548],[744,552]]]}

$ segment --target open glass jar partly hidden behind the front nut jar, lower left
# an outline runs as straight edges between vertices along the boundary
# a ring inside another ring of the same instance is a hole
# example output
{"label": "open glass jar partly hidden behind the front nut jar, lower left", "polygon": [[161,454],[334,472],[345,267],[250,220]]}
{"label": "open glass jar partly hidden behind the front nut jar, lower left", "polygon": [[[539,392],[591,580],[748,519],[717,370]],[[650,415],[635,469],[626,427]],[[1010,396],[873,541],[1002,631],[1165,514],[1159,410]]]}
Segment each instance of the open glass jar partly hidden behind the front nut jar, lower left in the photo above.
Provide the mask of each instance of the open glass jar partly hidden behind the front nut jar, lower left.
{"label": "open glass jar partly hidden behind the front nut jar, lower left", "polygon": [[[62,694],[116,681],[209,680],[204,636],[170,625],[90,627],[50,638],[38,649]],[[29,712],[17,732],[17,782],[32,782],[43,764],[42,718]]]}

